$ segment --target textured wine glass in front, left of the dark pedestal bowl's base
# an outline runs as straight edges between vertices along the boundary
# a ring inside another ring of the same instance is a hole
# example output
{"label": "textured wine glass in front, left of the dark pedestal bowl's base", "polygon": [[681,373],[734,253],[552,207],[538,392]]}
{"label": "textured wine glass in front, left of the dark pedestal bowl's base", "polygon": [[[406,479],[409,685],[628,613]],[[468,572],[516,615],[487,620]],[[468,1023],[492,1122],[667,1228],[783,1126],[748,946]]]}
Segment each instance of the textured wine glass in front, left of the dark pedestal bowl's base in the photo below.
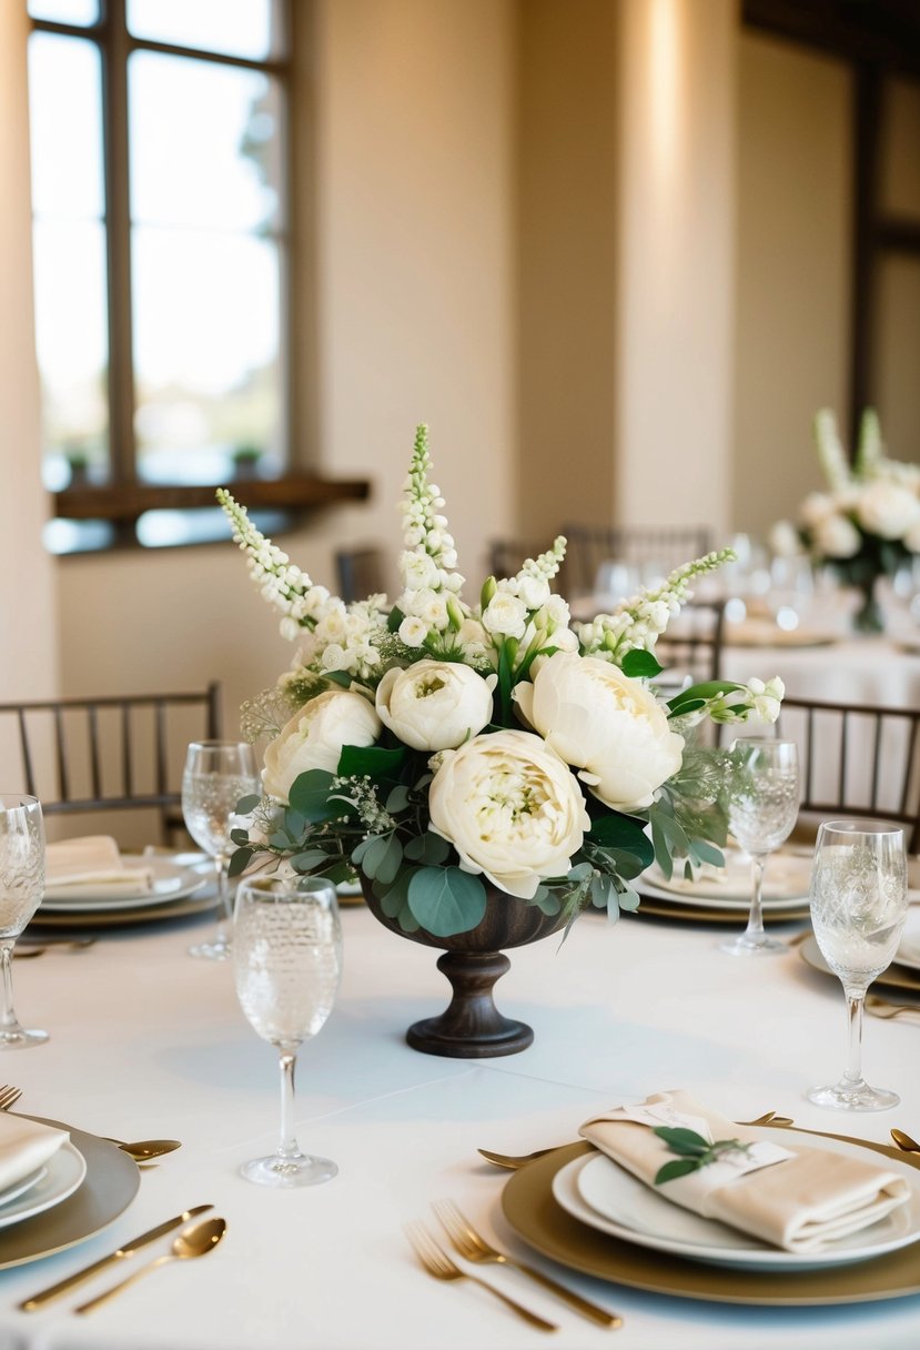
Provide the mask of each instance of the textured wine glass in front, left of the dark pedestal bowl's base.
{"label": "textured wine glass in front, left of the dark pedestal bowl's base", "polygon": [[301,1153],[294,1133],[294,1066],[302,1041],[322,1027],[341,976],[335,887],[318,878],[254,878],[240,883],[233,911],[233,973],[252,1030],[278,1048],[278,1152],[240,1168],[260,1185],[317,1185],[336,1176],[329,1158]]}

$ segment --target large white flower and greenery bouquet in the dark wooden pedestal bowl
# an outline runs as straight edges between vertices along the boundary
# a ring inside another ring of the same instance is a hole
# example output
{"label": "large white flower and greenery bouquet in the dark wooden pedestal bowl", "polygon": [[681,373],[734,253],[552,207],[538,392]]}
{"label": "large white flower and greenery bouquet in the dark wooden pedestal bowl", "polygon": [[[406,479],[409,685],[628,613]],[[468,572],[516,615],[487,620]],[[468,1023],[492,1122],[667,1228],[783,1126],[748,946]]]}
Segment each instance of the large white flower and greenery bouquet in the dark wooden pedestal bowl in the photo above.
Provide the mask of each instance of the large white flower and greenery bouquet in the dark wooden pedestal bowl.
{"label": "large white flower and greenery bouquet in the dark wooden pedestal bowl", "polygon": [[781,682],[712,682],[666,703],[652,682],[657,637],[731,551],[572,626],[550,590],[560,537],[471,606],[429,470],[420,427],[393,606],[314,586],[217,494],[283,636],[302,643],[243,709],[247,736],[274,738],[231,872],[258,855],[335,883],[359,869],[403,932],[447,937],[480,922],[484,883],[546,914],[594,905],[615,919],[638,906],[630,883],[653,856],[668,876],[674,856],[719,865],[726,756],[689,751],[684,733],[707,717],[776,720]]}

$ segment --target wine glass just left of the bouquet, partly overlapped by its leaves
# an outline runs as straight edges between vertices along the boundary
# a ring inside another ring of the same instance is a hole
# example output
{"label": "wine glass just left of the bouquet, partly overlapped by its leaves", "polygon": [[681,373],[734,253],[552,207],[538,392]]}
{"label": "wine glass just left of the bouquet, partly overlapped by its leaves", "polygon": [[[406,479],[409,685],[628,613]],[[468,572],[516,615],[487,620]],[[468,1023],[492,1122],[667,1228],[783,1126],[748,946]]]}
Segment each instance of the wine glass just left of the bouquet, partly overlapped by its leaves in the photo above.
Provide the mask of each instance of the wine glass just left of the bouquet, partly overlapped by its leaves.
{"label": "wine glass just left of the bouquet, partly overlapped by its leaves", "polygon": [[252,794],[262,794],[262,779],[251,745],[246,741],[192,741],[182,774],[182,815],[185,828],[198,848],[214,860],[220,896],[217,933],[213,941],[190,946],[192,956],[202,956],[212,961],[225,961],[229,956],[227,923],[231,911],[227,868],[231,857],[231,830],[236,803]]}

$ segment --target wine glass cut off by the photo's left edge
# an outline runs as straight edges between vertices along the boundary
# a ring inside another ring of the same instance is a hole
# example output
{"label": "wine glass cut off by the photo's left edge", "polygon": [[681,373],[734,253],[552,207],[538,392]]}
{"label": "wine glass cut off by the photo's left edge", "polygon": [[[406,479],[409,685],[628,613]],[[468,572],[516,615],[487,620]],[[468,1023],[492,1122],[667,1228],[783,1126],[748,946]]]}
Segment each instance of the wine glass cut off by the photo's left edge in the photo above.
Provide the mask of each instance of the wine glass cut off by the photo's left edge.
{"label": "wine glass cut off by the photo's left edge", "polygon": [[27,1031],[12,1004],[12,949],[45,894],[45,819],[42,805],[22,792],[0,795],[0,968],[3,1021],[0,1050],[42,1045],[47,1031]]}

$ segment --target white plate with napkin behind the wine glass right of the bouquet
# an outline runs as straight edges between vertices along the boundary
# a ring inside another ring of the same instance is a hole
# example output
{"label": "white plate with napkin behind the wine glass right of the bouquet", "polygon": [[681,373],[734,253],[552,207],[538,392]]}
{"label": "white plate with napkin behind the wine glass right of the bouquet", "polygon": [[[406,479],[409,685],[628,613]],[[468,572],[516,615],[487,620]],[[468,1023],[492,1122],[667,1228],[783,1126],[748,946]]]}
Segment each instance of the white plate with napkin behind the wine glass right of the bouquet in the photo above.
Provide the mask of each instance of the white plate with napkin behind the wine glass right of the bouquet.
{"label": "white plate with napkin behind the wine glass right of the bouquet", "polygon": [[[688,882],[677,864],[674,875],[668,880],[654,863],[638,882],[643,894],[676,899],[684,905],[701,905],[706,909],[724,907],[746,910],[751,899],[751,864],[746,853],[726,849],[724,868],[707,867]],[[770,909],[796,909],[808,899],[811,883],[811,855],[772,853],[764,878],[764,903]]]}

